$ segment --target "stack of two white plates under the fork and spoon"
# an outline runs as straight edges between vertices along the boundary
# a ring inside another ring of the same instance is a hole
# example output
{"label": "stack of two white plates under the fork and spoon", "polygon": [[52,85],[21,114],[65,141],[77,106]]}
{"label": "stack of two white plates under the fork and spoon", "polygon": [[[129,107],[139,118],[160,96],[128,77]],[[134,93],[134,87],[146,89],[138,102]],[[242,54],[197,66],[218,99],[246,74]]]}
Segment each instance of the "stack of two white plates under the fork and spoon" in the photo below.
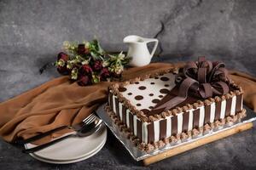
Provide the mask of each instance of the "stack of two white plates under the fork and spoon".
{"label": "stack of two white plates under the fork and spoon", "polygon": [[[96,155],[102,150],[107,140],[107,128],[104,124],[96,132],[84,138],[68,138],[59,143],[49,146],[30,154],[39,161],[55,164],[67,164],[84,161]],[[26,149],[35,147],[34,144],[26,144]]]}

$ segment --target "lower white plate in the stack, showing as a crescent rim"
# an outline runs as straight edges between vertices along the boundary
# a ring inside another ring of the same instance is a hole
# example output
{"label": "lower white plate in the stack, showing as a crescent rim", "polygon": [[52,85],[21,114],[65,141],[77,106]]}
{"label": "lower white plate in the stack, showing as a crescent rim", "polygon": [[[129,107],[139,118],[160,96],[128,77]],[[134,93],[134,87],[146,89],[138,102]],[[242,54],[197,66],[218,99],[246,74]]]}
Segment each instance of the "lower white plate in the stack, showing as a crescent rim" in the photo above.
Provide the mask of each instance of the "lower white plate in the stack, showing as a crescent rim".
{"label": "lower white plate in the stack, showing as a crescent rim", "polygon": [[[106,140],[105,140],[106,142]],[[52,161],[52,160],[48,160],[48,159],[43,159],[39,156],[36,156],[34,154],[30,154],[33,158],[37,159],[38,161],[44,161],[44,162],[47,162],[47,163],[53,163],[53,164],[68,164],[68,163],[75,163],[75,162],[78,162],[78,161],[84,161],[88,158],[90,158],[91,156],[94,156],[96,155],[96,153],[98,153],[100,150],[102,150],[102,147],[104,146],[105,143],[103,143],[102,145],[100,145],[94,152],[90,153],[90,155],[88,156],[84,156],[84,157],[81,157],[79,159],[75,159],[75,160],[71,160],[71,161]]]}

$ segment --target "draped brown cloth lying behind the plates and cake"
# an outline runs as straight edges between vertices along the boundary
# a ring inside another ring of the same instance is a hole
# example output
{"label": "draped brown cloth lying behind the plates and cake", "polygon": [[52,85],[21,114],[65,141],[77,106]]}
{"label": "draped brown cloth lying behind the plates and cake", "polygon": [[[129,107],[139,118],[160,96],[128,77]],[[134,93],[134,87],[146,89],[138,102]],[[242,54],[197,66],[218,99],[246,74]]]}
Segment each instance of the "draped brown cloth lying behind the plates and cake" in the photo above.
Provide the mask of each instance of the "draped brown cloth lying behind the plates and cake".
{"label": "draped brown cloth lying behind the plates and cake", "polygon": [[[123,79],[182,65],[154,63],[131,68],[124,71]],[[246,105],[256,111],[256,79],[238,71],[231,71],[231,74],[231,78],[245,91]],[[55,127],[75,125],[107,101],[108,86],[112,83],[100,82],[81,87],[76,82],[69,82],[68,77],[59,77],[9,99],[0,104],[0,135],[7,142],[15,142],[17,137],[27,139]],[[67,130],[40,139],[35,144],[43,144],[63,133]]]}

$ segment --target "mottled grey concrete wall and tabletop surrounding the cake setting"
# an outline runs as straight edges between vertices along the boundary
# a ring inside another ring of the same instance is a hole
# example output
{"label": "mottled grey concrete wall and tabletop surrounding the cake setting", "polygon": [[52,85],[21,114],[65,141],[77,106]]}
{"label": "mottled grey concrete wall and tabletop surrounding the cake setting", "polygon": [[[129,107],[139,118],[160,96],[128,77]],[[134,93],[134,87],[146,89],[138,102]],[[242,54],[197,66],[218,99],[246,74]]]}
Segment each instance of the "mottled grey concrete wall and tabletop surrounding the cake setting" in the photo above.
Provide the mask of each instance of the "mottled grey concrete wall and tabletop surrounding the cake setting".
{"label": "mottled grey concrete wall and tabletop surrounding the cake setting", "polygon": [[[256,1],[254,0],[1,0],[0,102],[59,77],[55,60],[65,40],[96,36],[109,51],[126,50],[130,34],[157,37],[154,61],[176,62],[206,55],[228,68],[256,76]],[[150,169],[256,168],[255,130],[207,144]],[[0,169],[143,169],[109,133],[96,155],[73,165],[35,161],[0,142]]]}

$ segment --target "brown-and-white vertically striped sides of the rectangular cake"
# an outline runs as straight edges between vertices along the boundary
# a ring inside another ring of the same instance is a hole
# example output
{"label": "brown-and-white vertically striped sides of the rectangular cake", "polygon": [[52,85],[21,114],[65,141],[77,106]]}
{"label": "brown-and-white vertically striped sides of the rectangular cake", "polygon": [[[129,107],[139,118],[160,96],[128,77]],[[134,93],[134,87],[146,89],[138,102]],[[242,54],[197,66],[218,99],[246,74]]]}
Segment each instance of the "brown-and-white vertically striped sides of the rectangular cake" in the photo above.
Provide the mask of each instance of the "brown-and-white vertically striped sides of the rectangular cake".
{"label": "brown-and-white vertically striped sides of the rectangular cake", "polygon": [[[146,144],[149,141],[150,143],[154,143],[172,135],[189,132],[195,127],[203,127],[207,123],[206,120],[214,122],[215,120],[223,119],[226,115],[230,116],[232,111],[241,111],[242,107],[242,95],[240,94],[238,97],[234,95],[230,99],[224,99],[215,103],[213,102],[210,105],[203,105],[197,109],[192,109],[185,113],[177,113],[176,116],[167,116],[166,119],[160,119],[159,121],[147,124],[145,122],[141,122],[136,115],[133,115],[123,103],[119,102],[119,99],[115,95],[112,95],[112,97],[111,95],[109,96],[108,102],[109,105],[112,104],[111,109],[113,112],[116,111],[115,115],[118,116],[122,122],[126,123],[126,127],[130,128],[131,133],[136,135],[140,141]],[[230,109],[227,107],[230,107]],[[218,111],[215,111],[215,108],[217,108]],[[223,118],[220,117],[221,111],[225,111]],[[230,111],[230,114],[227,113],[227,111]],[[216,113],[219,115],[219,118],[218,116],[215,116]],[[235,115],[236,113],[232,114]],[[215,119],[212,118],[214,116]]]}

